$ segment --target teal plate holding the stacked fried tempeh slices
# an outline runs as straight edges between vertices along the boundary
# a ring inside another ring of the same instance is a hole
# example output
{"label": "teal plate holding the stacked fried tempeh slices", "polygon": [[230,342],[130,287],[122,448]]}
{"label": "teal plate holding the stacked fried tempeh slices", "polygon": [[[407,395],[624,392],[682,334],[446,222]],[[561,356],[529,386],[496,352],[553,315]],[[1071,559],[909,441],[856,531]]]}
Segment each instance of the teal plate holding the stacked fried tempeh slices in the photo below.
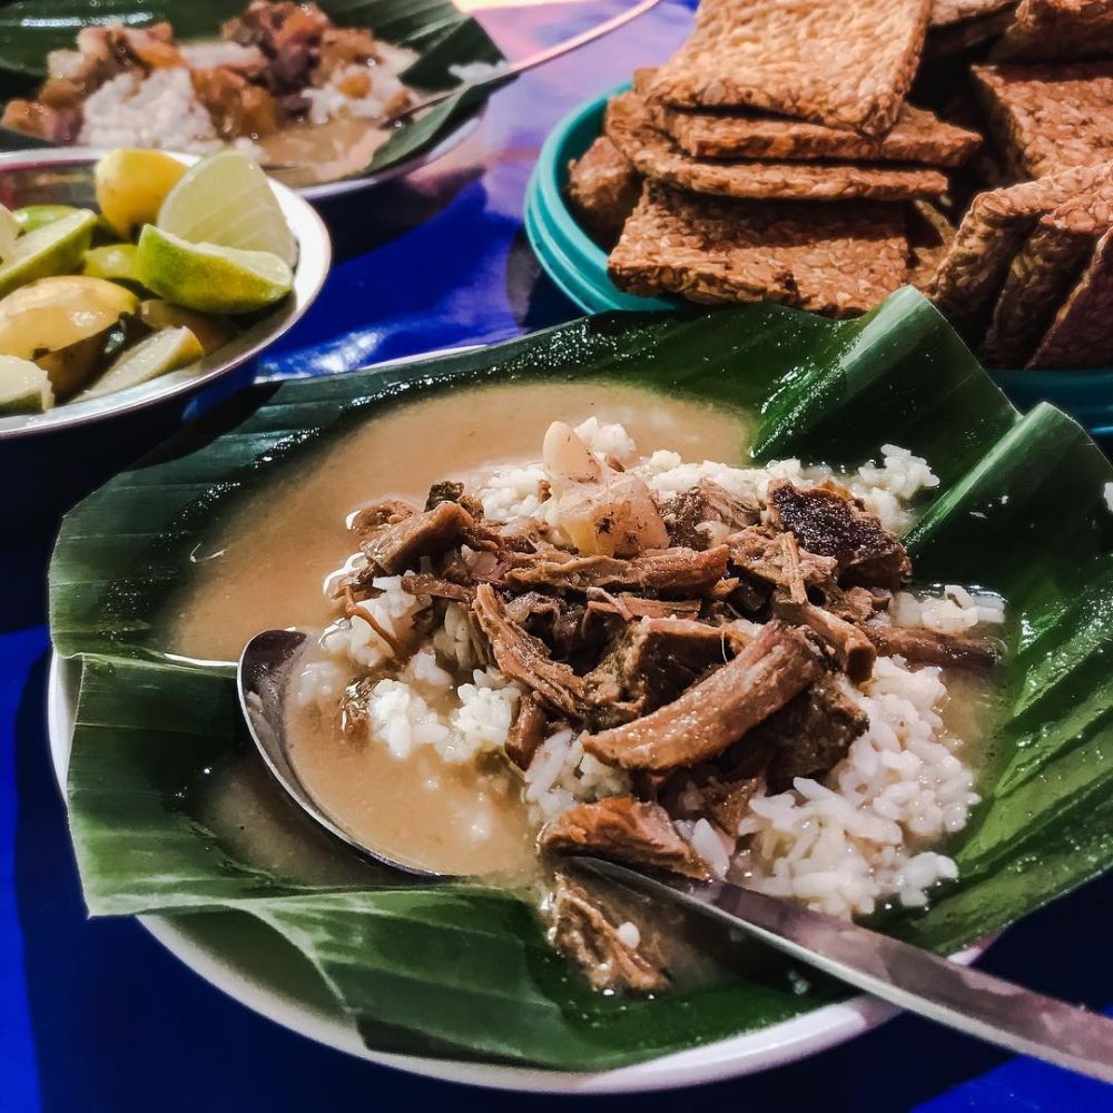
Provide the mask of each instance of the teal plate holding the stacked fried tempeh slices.
{"label": "teal plate holding the stacked fried tempeh slices", "polygon": [[[541,148],[525,195],[525,233],[538,260],[561,292],[587,313],[669,309],[680,304],[678,299],[622,293],[607,277],[607,253],[580,227],[564,203],[569,162],[583,155],[602,131],[607,101],[629,88],[610,89],[560,120]],[[1113,436],[1113,368],[992,374],[1021,410],[1051,402],[1095,436]]]}

